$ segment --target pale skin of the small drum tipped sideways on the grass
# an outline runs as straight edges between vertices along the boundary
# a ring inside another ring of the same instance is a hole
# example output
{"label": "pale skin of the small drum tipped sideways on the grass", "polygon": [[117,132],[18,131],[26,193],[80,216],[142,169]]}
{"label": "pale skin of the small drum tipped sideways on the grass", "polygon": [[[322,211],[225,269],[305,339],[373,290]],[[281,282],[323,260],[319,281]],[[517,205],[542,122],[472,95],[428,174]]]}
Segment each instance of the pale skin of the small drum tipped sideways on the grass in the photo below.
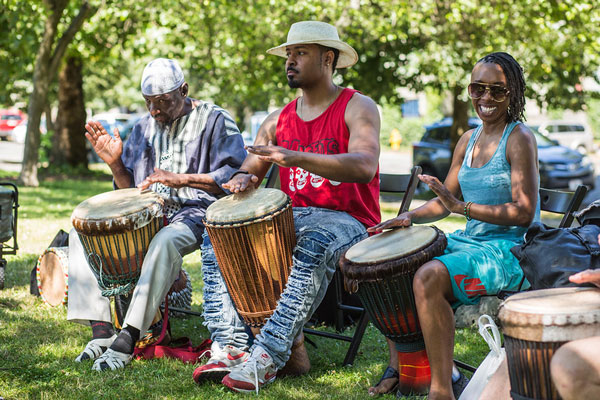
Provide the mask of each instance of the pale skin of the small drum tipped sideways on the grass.
{"label": "pale skin of the small drum tipped sideways on the grass", "polygon": [[69,292],[69,248],[49,247],[40,255],[36,280],[42,300],[56,307],[67,304]]}

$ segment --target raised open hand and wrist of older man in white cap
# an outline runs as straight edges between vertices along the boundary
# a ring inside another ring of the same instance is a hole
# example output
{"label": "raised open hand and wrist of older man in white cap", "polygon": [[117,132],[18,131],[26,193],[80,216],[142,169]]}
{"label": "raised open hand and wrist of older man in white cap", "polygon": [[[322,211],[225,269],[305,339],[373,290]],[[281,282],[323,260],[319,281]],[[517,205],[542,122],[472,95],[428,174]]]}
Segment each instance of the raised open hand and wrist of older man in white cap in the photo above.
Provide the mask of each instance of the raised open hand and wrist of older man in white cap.
{"label": "raised open hand and wrist of older man in white cap", "polygon": [[117,128],[114,129],[114,137],[104,129],[101,123],[89,121],[85,125],[87,132],[85,137],[92,145],[98,157],[108,164],[119,189],[131,187],[132,176],[125,168],[121,155],[123,154],[123,142]]}

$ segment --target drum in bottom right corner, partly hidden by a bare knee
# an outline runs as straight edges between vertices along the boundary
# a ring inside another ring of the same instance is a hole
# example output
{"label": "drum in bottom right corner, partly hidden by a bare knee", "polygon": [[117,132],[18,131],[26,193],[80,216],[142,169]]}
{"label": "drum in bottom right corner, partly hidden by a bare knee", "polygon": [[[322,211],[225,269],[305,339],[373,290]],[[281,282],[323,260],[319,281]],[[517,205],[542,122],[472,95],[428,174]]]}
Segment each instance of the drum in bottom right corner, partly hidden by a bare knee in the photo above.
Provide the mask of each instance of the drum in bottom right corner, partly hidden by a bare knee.
{"label": "drum in bottom right corner, partly hidden by a bare knee", "polygon": [[600,335],[600,290],[569,287],[518,293],[500,305],[498,318],[512,398],[560,399],[550,360],[566,342]]}

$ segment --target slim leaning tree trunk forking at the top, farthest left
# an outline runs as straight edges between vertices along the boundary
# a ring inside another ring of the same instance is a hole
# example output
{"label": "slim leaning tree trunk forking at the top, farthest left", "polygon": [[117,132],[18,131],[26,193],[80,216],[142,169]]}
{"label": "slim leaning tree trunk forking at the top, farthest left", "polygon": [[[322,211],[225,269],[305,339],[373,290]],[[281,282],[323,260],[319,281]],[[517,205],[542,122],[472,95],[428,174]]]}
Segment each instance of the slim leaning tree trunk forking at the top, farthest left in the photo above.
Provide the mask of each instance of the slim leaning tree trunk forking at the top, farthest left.
{"label": "slim leaning tree trunk forking at the top, farthest left", "polygon": [[71,43],[79,29],[81,29],[83,21],[96,10],[96,8],[91,8],[87,1],[84,1],[79,8],[77,16],[71,20],[71,24],[60,37],[56,47],[54,47],[56,35],[58,34],[58,23],[63,16],[63,11],[68,2],[69,0],[44,0],[44,5],[49,15],[44,24],[44,34],[35,59],[33,91],[29,97],[29,106],[27,108],[29,122],[27,123],[27,136],[25,137],[21,175],[19,176],[19,184],[25,186],[39,185],[37,163],[40,150],[40,120],[48,101],[48,87],[56,76],[56,71],[67,46]]}

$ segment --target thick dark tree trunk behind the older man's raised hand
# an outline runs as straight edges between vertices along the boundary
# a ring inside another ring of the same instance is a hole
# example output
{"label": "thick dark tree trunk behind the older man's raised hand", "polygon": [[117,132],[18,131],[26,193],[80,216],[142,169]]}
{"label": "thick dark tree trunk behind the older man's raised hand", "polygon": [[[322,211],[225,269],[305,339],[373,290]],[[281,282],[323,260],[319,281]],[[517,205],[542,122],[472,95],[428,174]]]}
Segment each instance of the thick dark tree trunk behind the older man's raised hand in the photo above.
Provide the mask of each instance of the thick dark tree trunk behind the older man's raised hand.
{"label": "thick dark tree trunk behind the older man's raised hand", "polygon": [[87,168],[82,66],[79,54],[69,56],[58,75],[58,115],[50,154],[53,165]]}

